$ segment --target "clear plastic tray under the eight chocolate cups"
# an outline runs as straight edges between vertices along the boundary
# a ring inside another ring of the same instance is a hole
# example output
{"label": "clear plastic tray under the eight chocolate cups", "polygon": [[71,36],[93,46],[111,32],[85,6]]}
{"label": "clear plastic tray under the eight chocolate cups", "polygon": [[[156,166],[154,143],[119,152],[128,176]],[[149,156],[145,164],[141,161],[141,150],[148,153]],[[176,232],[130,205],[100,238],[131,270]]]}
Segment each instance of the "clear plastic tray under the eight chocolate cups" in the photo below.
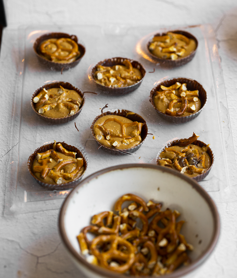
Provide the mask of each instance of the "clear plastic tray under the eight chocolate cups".
{"label": "clear plastic tray under the eight chocolate cups", "polygon": [[[152,34],[172,29],[192,33],[197,37],[199,46],[190,63],[164,70],[149,56],[146,44]],[[62,71],[62,74],[60,71],[45,68],[33,51],[34,40],[44,33],[53,31],[75,34],[79,42],[86,47],[86,54],[81,62],[70,70]],[[199,140],[210,144],[215,156],[210,173],[200,184],[216,202],[232,200],[229,177],[236,175],[232,132],[216,40],[210,25],[175,26],[163,29],[157,26],[127,28],[120,25],[40,26],[40,28],[33,26],[19,29],[19,49],[21,72],[16,85],[16,103],[12,119],[14,130],[12,145],[17,145],[18,150],[12,151],[9,167],[6,215],[55,209],[61,206],[69,190],[45,190],[27,169],[27,160],[31,153],[53,140],[65,141],[85,152],[88,159],[85,178],[109,166],[126,163],[154,164],[158,152],[164,145],[178,138],[188,138],[195,132],[200,136]],[[147,71],[145,79],[136,91],[123,96],[108,95],[98,91],[94,82],[90,80],[90,69],[97,62],[112,57],[134,59],[145,67]],[[205,108],[196,119],[188,123],[177,125],[162,120],[149,102],[150,91],[156,82],[173,77],[195,79],[207,92],[208,100]],[[75,121],[61,125],[46,123],[38,119],[31,107],[30,100],[34,91],[45,83],[55,80],[69,82],[83,91],[97,93],[97,95],[86,93],[85,105]],[[90,125],[101,113],[101,108],[105,104],[108,104],[106,108],[108,110],[121,108],[140,114],[147,121],[148,132],[153,134],[155,139],[153,135],[148,135],[140,149],[129,155],[112,155],[97,149],[98,145],[92,137]]]}

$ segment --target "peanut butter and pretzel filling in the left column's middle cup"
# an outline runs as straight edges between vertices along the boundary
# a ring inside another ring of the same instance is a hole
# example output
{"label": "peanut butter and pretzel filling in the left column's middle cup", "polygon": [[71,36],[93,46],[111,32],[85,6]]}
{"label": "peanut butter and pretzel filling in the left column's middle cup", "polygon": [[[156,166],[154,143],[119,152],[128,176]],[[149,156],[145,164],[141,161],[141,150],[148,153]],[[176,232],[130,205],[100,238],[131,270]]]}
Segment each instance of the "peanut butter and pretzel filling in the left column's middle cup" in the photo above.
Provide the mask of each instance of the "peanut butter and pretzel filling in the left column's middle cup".
{"label": "peanut butter and pretzel filling in the left column's middle cup", "polygon": [[33,98],[39,114],[49,118],[71,116],[79,111],[82,97],[74,90],[60,88],[43,89]]}

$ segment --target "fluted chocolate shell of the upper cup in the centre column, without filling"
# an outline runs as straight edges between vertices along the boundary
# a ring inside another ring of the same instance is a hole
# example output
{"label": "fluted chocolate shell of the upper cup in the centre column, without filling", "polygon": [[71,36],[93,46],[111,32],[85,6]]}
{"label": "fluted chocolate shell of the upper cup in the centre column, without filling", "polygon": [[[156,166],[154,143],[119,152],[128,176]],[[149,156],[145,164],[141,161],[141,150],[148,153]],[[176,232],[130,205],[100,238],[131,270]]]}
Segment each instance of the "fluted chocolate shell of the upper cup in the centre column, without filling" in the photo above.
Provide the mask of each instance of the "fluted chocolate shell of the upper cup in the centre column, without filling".
{"label": "fluted chocolate shell of the upper cup in the centre column, without filling", "polygon": [[[103,65],[106,67],[112,67],[114,65],[123,65],[122,62],[124,60],[128,60],[132,63],[132,66],[138,70],[140,70],[141,74],[142,74],[142,79],[140,81],[138,81],[137,83],[127,86],[127,87],[120,87],[120,88],[113,88],[113,87],[108,87],[108,86],[104,86],[98,82],[95,81],[95,72],[97,71],[97,66],[98,65]],[[146,74],[146,70],[143,67],[143,65],[141,63],[139,63],[138,61],[134,61],[132,59],[128,59],[128,58],[121,58],[121,57],[114,57],[111,59],[105,59],[103,61],[100,61],[99,63],[97,63],[91,70],[91,76],[92,76],[92,80],[96,83],[97,87],[102,91],[102,92],[108,92],[114,95],[125,95],[127,93],[131,93],[133,91],[135,91],[142,83],[142,80],[144,79]]]}

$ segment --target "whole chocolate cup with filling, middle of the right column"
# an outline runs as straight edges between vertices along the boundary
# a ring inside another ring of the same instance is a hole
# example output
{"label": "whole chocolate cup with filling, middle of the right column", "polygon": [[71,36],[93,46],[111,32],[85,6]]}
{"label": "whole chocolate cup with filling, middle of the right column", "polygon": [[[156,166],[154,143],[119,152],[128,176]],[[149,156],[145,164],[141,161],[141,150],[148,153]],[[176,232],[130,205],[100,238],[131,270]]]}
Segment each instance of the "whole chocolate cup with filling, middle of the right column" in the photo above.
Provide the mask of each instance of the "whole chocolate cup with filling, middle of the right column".
{"label": "whole chocolate cup with filling, middle of the right column", "polygon": [[207,93],[202,85],[190,78],[171,78],[156,85],[150,92],[150,102],[165,120],[185,123],[203,110]]}

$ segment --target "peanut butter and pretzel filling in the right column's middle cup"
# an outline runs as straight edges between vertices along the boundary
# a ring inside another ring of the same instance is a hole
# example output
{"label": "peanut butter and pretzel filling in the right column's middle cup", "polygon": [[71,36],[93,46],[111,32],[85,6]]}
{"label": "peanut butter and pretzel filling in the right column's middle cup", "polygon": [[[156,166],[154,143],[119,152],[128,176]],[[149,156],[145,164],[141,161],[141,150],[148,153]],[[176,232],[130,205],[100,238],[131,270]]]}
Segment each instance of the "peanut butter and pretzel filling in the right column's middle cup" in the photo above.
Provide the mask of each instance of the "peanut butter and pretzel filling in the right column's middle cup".
{"label": "peanut butter and pretzel filling in the right column's middle cup", "polygon": [[153,97],[155,107],[164,114],[177,117],[189,116],[199,111],[199,91],[189,91],[186,86],[186,83],[179,82],[170,87],[161,85]]}

